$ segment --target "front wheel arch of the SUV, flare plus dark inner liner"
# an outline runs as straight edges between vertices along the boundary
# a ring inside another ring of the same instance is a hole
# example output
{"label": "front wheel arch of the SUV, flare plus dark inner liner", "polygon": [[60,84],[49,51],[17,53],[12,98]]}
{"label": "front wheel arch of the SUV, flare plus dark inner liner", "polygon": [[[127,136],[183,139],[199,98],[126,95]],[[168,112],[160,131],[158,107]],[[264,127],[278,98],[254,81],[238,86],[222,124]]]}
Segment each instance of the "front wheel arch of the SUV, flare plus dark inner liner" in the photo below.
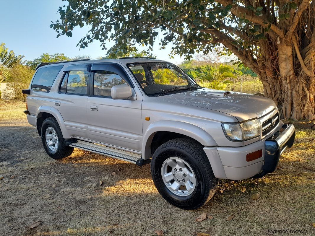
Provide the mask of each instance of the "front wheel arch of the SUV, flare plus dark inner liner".
{"label": "front wheel arch of the SUV, flare plus dark inner liner", "polygon": [[146,133],[143,137],[143,159],[151,158],[154,149],[156,149],[159,144],[162,144],[159,143],[161,142],[159,138],[162,139],[163,143],[174,138],[190,138],[203,146],[217,146],[217,143],[208,132],[191,123],[181,121],[156,121],[146,129]]}

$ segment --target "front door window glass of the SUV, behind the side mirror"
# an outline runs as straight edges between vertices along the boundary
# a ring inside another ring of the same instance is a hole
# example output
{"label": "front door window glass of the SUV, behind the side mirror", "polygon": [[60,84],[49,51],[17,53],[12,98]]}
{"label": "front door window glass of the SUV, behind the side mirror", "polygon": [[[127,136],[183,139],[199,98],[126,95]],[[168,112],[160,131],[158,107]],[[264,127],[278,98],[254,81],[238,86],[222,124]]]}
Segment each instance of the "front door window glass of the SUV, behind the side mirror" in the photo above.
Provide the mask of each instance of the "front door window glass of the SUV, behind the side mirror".
{"label": "front door window glass of the SUV, behind the side mirror", "polygon": [[107,70],[96,70],[93,81],[93,94],[99,96],[112,96],[112,87],[127,84],[122,77]]}

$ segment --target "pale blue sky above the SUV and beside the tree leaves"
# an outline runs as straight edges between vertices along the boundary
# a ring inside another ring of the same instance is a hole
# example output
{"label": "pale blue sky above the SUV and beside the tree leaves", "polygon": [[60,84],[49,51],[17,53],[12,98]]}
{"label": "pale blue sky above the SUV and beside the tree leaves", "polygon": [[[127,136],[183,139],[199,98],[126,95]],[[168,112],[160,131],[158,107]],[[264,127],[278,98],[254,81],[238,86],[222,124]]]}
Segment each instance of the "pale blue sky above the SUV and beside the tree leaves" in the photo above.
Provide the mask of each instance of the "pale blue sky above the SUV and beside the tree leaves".
{"label": "pale blue sky above the SUV and beside the tree leaves", "polygon": [[[76,47],[79,40],[88,32],[87,27],[76,27],[72,37],[60,36],[50,29],[50,20],[59,19],[57,13],[59,6],[65,5],[61,0],[0,0],[0,7],[6,9],[1,12],[0,23],[0,42],[4,42],[9,50],[16,54],[25,56],[25,60],[32,60],[39,57],[42,53],[65,53],[68,57],[78,55],[90,55],[92,58],[104,56],[105,50],[101,50],[100,42],[94,41],[88,48],[81,49]],[[157,41],[160,39],[157,37]],[[110,48],[110,44],[108,44]],[[158,59],[180,63],[183,58],[175,56],[169,59],[171,45],[166,49],[159,49],[158,43],[154,46],[153,54]],[[145,49],[142,46],[139,50]]]}

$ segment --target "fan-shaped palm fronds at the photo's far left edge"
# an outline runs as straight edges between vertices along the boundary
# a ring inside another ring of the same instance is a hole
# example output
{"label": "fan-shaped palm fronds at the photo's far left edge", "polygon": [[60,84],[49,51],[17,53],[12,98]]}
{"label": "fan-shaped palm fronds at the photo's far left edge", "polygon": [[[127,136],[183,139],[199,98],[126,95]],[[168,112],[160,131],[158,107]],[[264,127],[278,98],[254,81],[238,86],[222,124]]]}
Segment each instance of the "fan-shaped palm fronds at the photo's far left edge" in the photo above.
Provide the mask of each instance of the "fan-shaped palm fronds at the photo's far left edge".
{"label": "fan-shaped palm fronds at the photo's far left edge", "polygon": [[14,51],[9,51],[5,43],[0,44],[0,83],[10,76],[9,67],[20,63],[24,56],[15,56]]}

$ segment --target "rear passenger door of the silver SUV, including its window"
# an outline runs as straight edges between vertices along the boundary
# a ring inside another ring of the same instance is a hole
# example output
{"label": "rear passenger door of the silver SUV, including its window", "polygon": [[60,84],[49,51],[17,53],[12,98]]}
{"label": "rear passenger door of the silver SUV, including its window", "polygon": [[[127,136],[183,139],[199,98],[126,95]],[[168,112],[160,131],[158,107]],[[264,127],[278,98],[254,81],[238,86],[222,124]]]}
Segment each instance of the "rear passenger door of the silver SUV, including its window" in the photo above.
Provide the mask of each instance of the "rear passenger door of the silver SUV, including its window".
{"label": "rear passenger door of the silver SUV, including its window", "polygon": [[69,65],[55,93],[53,106],[61,113],[72,138],[88,138],[86,106],[91,64]]}

